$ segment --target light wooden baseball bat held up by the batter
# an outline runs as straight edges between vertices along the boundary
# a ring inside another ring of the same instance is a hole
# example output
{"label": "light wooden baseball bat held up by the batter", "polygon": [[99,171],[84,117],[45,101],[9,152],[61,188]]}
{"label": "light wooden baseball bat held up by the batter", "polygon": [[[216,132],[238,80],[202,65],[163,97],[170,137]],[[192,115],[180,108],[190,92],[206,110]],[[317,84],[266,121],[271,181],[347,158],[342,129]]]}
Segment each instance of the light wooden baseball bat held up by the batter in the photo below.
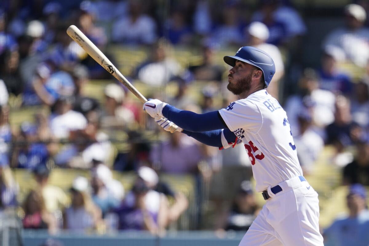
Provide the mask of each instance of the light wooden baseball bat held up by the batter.
{"label": "light wooden baseball bat held up by the batter", "polygon": [[130,90],[142,103],[146,103],[146,98],[134,87],[132,84],[119,72],[119,70],[110,62],[110,60],[100,51],[96,45],[86,37],[81,30],[75,25],[71,25],[67,29],[67,34],[71,37],[79,46],[84,49],[97,63],[99,63],[105,70],[113,75],[120,83],[124,84],[128,90]]}

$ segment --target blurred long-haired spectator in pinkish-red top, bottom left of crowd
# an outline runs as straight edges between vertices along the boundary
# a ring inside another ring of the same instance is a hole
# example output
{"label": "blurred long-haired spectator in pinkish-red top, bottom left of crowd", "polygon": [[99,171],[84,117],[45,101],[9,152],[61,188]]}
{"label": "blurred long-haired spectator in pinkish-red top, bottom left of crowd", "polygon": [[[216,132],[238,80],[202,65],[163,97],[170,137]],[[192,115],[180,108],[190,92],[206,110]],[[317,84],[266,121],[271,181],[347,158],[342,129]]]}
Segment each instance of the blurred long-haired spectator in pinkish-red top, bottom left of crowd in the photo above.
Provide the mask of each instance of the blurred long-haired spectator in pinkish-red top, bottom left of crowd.
{"label": "blurred long-haired spectator in pinkish-red top, bottom left of crowd", "polygon": [[49,213],[39,191],[32,190],[23,202],[23,228],[24,229],[48,229],[50,234],[55,234],[57,224],[54,215]]}

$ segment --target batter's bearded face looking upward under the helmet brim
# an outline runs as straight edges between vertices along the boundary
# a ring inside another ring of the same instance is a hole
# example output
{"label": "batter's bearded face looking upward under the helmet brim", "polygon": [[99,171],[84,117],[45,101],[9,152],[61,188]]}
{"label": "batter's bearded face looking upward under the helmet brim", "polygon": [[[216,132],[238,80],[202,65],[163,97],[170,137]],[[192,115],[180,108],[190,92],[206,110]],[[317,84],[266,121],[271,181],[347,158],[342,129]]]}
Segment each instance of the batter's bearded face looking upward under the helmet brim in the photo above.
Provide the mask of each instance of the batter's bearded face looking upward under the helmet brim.
{"label": "batter's bearded face looking upward under the helmet brim", "polygon": [[227,89],[235,95],[239,95],[251,88],[251,78],[254,67],[248,63],[236,61],[235,66],[228,75]]}

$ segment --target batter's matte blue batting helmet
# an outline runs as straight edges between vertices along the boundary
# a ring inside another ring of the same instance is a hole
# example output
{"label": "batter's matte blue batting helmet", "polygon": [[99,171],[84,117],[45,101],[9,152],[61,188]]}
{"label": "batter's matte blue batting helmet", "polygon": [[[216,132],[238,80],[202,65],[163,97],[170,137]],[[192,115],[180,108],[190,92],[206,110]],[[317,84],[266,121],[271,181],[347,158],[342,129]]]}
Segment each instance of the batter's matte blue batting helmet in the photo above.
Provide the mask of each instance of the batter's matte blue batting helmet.
{"label": "batter's matte blue batting helmet", "polygon": [[240,60],[261,69],[264,75],[265,88],[268,87],[270,80],[272,80],[272,77],[276,72],[274,61],[270,55],[268,55],[265,51],[252,46],[241,47],[237,51],[236,55],[224,56],[223,59],[225,63],[232,67],[235,66],[236,60]]}

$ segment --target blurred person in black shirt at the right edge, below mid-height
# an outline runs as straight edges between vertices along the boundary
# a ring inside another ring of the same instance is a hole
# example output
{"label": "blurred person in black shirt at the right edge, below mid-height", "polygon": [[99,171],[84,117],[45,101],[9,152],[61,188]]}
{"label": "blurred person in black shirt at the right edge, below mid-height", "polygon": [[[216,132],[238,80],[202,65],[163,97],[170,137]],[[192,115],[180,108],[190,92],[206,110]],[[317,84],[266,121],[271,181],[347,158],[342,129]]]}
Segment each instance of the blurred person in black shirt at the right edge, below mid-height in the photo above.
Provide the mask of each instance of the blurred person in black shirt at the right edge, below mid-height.
{"label": "blurred person in black shirt at the right edge, below mid-height", "polygon": [[343,169],[343,183],[369,186],[369,141],[356,143],[356,150],[355,159]]}

